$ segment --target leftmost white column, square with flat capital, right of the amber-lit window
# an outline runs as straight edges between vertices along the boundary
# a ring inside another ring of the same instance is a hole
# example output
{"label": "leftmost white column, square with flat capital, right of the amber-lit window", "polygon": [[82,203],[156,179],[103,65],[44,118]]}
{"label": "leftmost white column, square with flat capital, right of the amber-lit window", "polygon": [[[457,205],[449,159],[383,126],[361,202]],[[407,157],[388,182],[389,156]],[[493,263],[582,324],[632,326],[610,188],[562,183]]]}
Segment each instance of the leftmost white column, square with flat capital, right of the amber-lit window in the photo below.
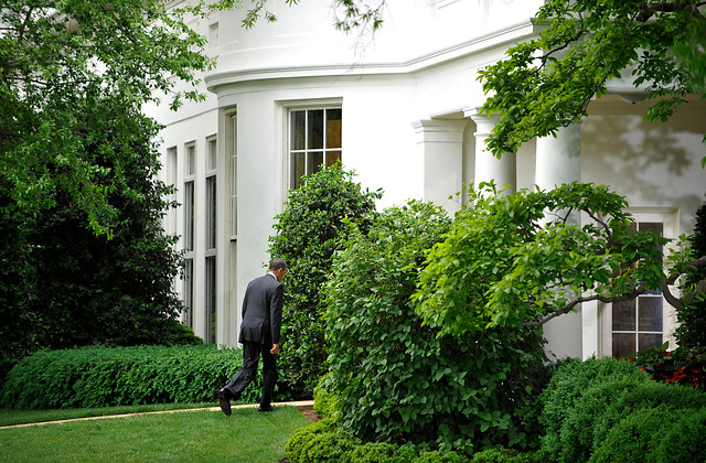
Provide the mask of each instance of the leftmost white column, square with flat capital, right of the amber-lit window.
{"label": "leftmost white column, square with flat capital, right of the amber-lit window", "polygon": [[460,209],[460,198],[449,200],[463,187],[463,129],[467,120],[427,119],[413,122],[424,160],[424,201]]}

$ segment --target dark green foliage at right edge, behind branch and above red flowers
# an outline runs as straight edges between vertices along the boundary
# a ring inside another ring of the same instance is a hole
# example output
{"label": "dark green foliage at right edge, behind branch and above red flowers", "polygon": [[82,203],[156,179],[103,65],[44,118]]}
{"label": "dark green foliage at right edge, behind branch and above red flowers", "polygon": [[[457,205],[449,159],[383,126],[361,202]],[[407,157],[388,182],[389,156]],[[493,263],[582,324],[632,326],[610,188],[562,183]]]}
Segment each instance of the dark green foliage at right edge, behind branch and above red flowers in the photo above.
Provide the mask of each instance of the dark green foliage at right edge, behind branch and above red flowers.
{"label": "dark green foliage at right edge, behind branch and above red flowers", "polygon": [[[706,203],[696,211],[694,233],[688,237],[694,256],[706,256]],[[686,293],[695,294],[677,313],[680,322],[675,336],[680,347],[706,347],[706,268],[697,268],[686,274]]]}

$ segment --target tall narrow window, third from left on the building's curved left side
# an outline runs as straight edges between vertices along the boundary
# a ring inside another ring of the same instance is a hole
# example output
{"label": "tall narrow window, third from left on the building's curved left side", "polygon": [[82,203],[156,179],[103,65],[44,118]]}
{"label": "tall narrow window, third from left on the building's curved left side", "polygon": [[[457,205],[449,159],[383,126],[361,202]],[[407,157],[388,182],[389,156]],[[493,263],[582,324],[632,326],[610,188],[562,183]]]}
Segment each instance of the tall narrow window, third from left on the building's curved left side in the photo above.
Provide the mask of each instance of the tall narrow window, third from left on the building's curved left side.
{"label": "tall narrow window, third from left on the building's curved left side", "polygon": [[205,336],[207,343],[215,342],[216,332],[216,138],[206,140],[206,219],[205,219]]}

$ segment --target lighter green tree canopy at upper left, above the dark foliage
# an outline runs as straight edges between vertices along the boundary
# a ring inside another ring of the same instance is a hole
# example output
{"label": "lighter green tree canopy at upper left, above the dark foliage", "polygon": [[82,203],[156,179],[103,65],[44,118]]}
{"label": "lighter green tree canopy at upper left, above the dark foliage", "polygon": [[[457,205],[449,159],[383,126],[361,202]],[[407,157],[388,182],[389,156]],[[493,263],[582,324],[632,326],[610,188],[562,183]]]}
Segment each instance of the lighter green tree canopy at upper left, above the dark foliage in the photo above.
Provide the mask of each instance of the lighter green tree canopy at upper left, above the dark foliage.
{"label": "lighter green tree canopy at upper left, above the dark foliage", "polygon": [[[140,114],[160,94],[172,107],[195,90],[211,62],[204,39],[183,22],[184,12],[161,0],[62,0],[3,2],[0,9],[0,212],[39,214],[67,193],[98,234],[111,233],[117,211],[111,190],[139,195],[125,181],[128,164],[106,166],[89,150],[129,149],[119,118],[86,118],[92,108],[119,106]],[[130,116],[128,116],[130,117]],[[114,185],[101,182],[105,176]]]}

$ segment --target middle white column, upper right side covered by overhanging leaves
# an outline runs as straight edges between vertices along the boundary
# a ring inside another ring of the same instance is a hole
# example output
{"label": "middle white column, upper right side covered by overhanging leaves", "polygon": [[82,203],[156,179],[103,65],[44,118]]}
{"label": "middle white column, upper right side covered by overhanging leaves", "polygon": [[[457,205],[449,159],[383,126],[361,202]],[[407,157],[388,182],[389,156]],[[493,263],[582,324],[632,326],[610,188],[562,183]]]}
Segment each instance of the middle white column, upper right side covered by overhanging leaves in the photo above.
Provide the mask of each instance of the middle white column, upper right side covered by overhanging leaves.
{"label": "middle white column, upper right side covered by overhanging leaves", "polygon": [[485,146],[485,140],[500,119],[498,116],[485,116],[478,111],[479,108],[466,112],[475,122],[475,175],[473,183],[495,181],[498,190],[505,189],[505,194],[514,194],[517,191],[517,164],[514,153],[503,153],[498,159]]}

